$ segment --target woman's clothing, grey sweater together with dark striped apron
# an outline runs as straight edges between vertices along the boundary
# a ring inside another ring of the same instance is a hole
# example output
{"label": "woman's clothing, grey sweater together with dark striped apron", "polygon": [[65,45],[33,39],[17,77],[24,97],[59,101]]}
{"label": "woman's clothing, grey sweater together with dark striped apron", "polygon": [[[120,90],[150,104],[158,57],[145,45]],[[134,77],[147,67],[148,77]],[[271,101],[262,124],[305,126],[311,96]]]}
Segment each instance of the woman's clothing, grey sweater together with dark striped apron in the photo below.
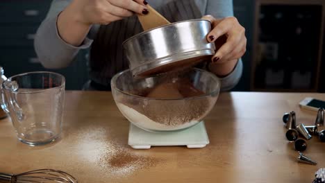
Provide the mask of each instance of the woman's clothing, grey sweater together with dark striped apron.
{"label": "woman's clothing, grey sweater together with dark striped apron", "polygon": [[[203,15],[213,17],[233,16],[232,0],[148,0],[169,21],[197,19]],[[81,46],[67,44],[58,35],[56,19],[70,0],[53,0],[46,19],[38,28],[35,51],[44,67],[67,67],[78,51],[92,49],[90,55],[90,80],[109,86],[115,73],[128,69],[122,42],[142,31],[136,16],[115,21],[108,26],[93,25]],[[99,36],[100,35],[100,36]],[[102,55],[102,56],[101,56]],[[221,78],[222,91],[234,87],[242,76],[242,60],[228,76]]]}

